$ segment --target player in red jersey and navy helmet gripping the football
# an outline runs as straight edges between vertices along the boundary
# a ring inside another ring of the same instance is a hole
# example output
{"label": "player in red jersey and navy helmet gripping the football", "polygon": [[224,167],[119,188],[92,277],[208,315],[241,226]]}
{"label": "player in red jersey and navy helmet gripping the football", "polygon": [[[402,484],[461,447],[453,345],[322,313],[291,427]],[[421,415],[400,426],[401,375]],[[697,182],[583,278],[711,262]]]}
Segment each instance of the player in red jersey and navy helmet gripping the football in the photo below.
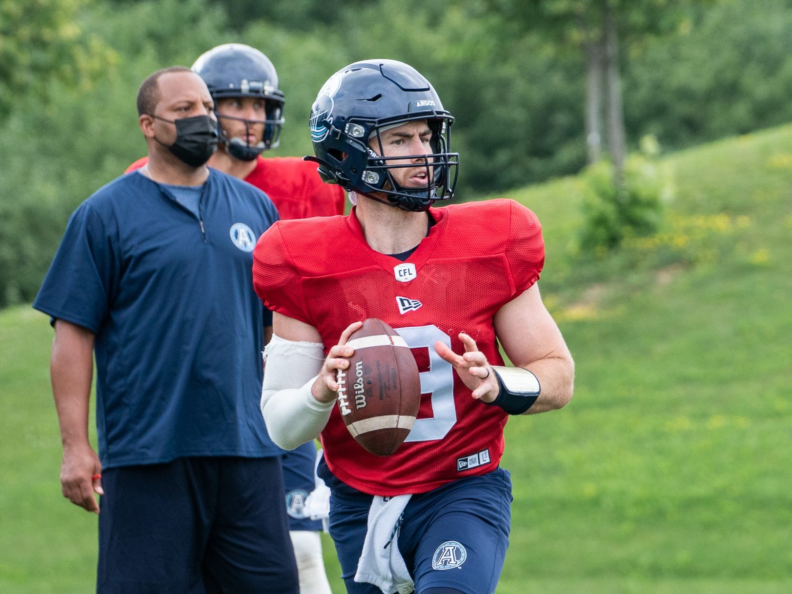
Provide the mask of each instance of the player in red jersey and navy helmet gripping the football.
{"label": "player in red jersey and navy helmet gripping the football", "polygon": [[[404,63],[339,70],[310,131],[319,173],[356,207],[276,223],[253,253],[275,334],[262,413],[281,447],[321,432],[330,535],[354,594],[494,592],[512,501],[503,428],[572,397],[573,360],[536,285],[535,215],[512,200],[432,208],[455,186],[452,122]],[[334,406],[365,318],[396,329],[421,371],[417,421],[387,457],[360,447]]]}

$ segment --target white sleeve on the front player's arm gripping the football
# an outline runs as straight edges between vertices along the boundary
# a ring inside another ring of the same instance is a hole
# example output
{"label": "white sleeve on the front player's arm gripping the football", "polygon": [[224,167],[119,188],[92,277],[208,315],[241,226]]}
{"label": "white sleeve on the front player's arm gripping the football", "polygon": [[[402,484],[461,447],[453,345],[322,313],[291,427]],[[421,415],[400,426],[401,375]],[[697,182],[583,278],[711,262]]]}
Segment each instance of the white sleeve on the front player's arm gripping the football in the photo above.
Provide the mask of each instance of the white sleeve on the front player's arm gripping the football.
{"label": "white sleeve on the front player's arm gripping the football", "polygon": [[293,450],[317,437],[333,412],[335,401],[318,402],[310,393],[325,351],[318,342],[286,341],[273,335],[264,357],[261,414],[272,441]]}

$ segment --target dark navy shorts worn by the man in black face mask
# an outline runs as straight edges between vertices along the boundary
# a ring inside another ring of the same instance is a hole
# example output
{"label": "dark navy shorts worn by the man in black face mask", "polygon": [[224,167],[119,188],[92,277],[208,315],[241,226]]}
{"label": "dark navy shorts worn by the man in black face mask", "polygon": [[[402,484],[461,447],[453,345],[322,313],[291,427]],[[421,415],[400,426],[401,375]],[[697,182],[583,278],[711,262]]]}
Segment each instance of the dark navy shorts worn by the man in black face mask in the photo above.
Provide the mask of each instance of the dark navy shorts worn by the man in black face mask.
{"label": "dark navy shorts worn by the man in black face mask", "polygon": [[97,594],[298,594],[280,456],[102,472]]}

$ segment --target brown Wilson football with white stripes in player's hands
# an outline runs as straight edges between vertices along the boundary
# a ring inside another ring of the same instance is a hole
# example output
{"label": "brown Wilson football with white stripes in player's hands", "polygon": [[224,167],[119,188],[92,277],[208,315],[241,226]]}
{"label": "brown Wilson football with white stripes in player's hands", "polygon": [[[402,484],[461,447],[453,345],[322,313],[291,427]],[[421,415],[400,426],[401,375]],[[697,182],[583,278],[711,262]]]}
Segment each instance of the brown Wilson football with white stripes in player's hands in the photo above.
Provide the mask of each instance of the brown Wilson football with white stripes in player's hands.
{"label": "brown Wilson football with white stripes in player's hands", "polygon": [[338,371],[337,405],[365,450],[391,455],[413,428],[421,403],[418,366],[407,343],[382,320],[368,318],[347,343],[355,349]]}

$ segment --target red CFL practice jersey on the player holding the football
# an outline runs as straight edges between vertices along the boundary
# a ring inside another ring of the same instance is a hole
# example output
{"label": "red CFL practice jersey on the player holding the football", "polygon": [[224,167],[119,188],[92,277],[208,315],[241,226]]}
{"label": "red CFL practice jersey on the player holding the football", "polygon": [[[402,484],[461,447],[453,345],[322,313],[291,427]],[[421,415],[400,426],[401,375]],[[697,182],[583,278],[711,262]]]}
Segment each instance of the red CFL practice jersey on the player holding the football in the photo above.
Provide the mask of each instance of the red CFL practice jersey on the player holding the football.
{"label": "red CFL practice jersey on the player holding the football", "polygon": [[380,318],[412,348],[421,371],[421,408],[394,455],[368,453],[337,407],[320,436],[341,481],[392,497],[425,493],[457,478],[494,470],[508,415],[470,395],[435,341],[463,352],[473,337],[502,365],[493,317],[539,279],[544,242],[539,220],[513,200],[432,208],[436,224],[407,259],[376,252],[352,215],[280,221],[253,252],[253,284],[273,311],[318,329],[326,351],[352,322]]}

